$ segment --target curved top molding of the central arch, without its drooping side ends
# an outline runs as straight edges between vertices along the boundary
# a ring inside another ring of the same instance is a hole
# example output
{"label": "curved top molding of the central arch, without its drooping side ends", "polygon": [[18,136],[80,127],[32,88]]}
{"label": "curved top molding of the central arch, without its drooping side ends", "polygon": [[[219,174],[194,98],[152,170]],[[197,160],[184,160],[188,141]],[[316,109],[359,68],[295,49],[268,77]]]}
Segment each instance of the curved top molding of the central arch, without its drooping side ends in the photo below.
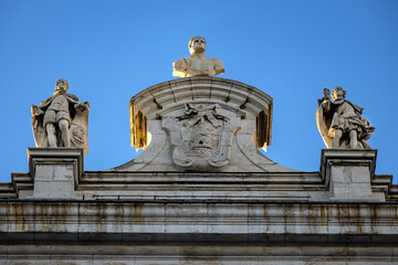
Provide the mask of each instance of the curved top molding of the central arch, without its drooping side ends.
{"label": "curved top molding of the central arch, without its drooping side ends", "polygon": [[[248,99],[249,97],[249,99]],[[172,109],[171,106],[184,105],[186,102],[212,100],[230,108],[240,108],[254,117],[264,110],[271,114],[272,97],[248,84],[210,76],[195,76],[171,80],[150,86],[132,97],[130,103],[136,110],[143,112],[148,118]],[[227,104],[228,103],[228,104]],[[271,115],[270,115],[271,116]]]}

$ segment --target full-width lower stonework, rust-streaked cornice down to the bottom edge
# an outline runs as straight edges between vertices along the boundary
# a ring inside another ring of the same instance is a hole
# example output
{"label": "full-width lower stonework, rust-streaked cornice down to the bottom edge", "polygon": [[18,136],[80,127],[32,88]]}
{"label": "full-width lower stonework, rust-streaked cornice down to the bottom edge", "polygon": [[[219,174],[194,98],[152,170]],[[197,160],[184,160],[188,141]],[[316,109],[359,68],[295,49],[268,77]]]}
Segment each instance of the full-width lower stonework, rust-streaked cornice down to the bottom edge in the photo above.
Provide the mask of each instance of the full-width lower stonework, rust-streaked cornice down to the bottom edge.
{"label": "full-width lower stonework, rust-streaked cornice down to the bottom edge", "polygon": [[0,201],[0,262],[395,264],[397,211],[396,203]]}

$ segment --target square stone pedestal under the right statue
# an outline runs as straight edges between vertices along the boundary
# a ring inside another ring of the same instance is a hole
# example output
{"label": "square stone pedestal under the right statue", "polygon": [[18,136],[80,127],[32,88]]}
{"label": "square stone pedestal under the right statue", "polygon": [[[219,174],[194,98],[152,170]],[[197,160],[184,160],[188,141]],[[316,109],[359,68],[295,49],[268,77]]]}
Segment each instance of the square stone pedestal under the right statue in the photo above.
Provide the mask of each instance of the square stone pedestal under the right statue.
{"label": "square stone pedestal under the right statue", "polygon": [[331,201],[385,201],[371,191],[377,150],[323,149],[321,173],[329,184]]}

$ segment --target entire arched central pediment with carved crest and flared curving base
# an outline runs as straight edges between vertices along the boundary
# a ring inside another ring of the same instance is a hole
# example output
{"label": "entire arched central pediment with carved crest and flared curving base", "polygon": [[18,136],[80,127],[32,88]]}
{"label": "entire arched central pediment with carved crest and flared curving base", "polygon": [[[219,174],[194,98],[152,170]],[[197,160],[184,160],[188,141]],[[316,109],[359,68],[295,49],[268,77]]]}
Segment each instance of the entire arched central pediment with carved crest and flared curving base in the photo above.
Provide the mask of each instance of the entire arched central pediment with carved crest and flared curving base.
{"label": "entire arched central pediment with carved crest and flared curving base", "polygon": [[292,172],[258,149],[271,145],[272,97],[241,82],[195,76],[150,86],[130,99],[127,171]]}

